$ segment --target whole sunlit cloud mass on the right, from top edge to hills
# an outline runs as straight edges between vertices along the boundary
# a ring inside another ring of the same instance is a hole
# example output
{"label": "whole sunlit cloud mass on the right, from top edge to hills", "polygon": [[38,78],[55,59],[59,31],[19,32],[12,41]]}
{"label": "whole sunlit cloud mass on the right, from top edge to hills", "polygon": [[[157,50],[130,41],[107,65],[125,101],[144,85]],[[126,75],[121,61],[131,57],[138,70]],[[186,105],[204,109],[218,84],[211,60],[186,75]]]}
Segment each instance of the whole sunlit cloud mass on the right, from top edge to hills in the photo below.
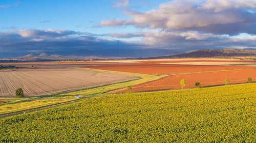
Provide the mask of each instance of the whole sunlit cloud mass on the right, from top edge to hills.
{"label": "whole sunlit cloud mass on the right, from top edge to hills", "polygon": [[141,28],[139,33],[111,33],[114,38],[140,37],[151,47],[256,48],[256,1],[174,0],[131,18],[102,20],[102,26]]}

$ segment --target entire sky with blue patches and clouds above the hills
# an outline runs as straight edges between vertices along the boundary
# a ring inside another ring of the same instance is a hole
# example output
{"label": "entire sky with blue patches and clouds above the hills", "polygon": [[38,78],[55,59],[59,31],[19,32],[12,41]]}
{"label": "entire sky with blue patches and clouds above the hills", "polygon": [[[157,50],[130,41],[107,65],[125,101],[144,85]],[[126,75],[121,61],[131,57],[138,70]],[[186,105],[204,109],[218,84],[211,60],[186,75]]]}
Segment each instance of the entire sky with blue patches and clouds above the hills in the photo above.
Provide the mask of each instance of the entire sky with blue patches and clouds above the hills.
{"label": "entire sky with blue patches and clouds above the hills", "polygon": [[256,0],[0,0],[0,53],[256,48]]}

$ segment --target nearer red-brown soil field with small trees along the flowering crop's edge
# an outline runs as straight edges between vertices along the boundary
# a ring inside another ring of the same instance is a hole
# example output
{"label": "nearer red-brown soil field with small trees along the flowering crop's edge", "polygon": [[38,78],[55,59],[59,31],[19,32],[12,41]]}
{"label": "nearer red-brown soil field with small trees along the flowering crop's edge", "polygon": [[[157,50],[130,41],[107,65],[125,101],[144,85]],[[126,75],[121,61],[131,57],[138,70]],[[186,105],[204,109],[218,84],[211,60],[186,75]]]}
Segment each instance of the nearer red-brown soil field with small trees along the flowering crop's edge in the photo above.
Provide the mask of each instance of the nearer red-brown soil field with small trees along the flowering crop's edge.
{"label": "nearer red-brown soil field with small trees along the flowering crop's edge", "polygon": [[[186,80],[185,88],[196,88],[196,82],[200,82],[202,87],[208,87],[223,85],[223,80],[226,78],[230,80],[230,84],[245,83],[248,77],[252,77],[253,81],[256,81],[256,69],[170,75],[155,81],[137,84],[132,87],[132,92],[181,89],[181,79]],[[127,92],[126,89],[121,89],[112,93],[125,92]]]}

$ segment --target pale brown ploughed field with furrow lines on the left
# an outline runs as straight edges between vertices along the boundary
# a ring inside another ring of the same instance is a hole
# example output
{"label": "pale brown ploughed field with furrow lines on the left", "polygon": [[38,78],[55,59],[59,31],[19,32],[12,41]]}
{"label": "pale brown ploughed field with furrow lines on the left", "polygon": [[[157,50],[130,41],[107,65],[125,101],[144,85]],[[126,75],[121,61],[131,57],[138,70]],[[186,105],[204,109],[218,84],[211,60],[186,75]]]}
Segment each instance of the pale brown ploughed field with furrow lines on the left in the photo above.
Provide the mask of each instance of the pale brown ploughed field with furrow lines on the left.
{"label": "pale brown ploughed field with furrow lines on the left", "polygon": [[135,76],[73,68],[0,71],[0,96],[13,97],[18,87],[25,96],[34,96],[132,78]]}

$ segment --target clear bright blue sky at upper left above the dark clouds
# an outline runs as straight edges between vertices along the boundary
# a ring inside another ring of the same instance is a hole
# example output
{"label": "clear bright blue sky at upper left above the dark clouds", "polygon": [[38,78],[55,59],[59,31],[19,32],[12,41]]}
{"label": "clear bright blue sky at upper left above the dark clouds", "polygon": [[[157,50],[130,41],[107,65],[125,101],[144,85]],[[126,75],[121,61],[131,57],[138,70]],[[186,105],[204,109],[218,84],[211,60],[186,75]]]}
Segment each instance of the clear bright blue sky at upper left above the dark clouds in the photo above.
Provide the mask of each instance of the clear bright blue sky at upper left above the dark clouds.
{"label": "clear bright blue sky at upper left above the dark clouds", "polygon": [[[143,1],[142,1],[143,2]],[[146,11],[157,8],[160,3],[166,1],[150,1],[140,5],[135,2],[125,9]],[[104,19],[128,18],[123,14],[122,7],[115,8],[118,1],[112,0],[46,0],[46,1],[0,1],[0,5],[9,5],[9,8],[0,9],[2,31],[11,27],[19,29],[66,29],[95,34],[110,32],[135,32],[137,28],[128,26],[125,28],[112,28],[98,26]]]}

